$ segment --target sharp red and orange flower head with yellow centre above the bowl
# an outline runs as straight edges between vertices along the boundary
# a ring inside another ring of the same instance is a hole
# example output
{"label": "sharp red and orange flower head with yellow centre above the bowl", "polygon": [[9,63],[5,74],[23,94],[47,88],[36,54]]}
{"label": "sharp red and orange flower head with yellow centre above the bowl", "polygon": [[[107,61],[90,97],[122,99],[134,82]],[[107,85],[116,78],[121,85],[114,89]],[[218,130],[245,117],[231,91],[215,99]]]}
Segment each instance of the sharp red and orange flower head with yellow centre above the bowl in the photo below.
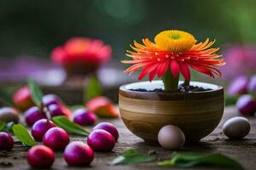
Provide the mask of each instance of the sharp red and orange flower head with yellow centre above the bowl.
{"label": "sharp red and orange flower head with yellow centre above the bowl", "polygon": [[[154,43],[155,42],[155,43]],[[173,77],[178,77],[180,72],[183,77],[190,81],[189,67],[207,74],[221,76],[221,72],[214,66],[224,65],[221,55],[215,54],[218,48],[210,48],[214,42],[196,43],[195,38],[184,31],[162,31],[154,42],[143,39],[143,44],[134,42],[131,48],[135,51],[127,51],[131,60],[122,61],[132,64],[125,72],[129,75],[135,71],[142,70],[138,79],[148,75],[149,81],[155,76],[163,77],[166,71],[171,71]]]}

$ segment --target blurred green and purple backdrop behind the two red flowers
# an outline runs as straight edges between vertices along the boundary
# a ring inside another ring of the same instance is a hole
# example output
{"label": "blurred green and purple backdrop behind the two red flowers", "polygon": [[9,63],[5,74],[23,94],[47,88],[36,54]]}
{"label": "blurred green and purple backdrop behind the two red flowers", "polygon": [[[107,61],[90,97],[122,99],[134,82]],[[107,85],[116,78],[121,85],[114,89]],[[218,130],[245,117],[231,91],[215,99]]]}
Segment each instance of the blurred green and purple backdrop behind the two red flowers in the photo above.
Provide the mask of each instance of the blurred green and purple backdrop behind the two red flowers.
{"label": "blurred green and purple backdrop behind the two red flowers", "polygon": [[227,61],[224,77],[210,79],[194,72],[192,80],[224,85],[256,72],[255,7],[255,0],[2,0],[1,87],[16,86],[32,77],[41,86],[49,86],[45,92],[63,98],[72,94],[71,103],[78,103],[84,95],[81,81],[69,80],[49,55],[71,37],[99,38],[111,45],[113,55],[97,76],[105,94],[117,100],[119,85],[137,81],[136,74],[123,73],[128,65],[119,63],[129,44],[143,37],[154,40],[158,32],[168,29],[189,31],[199,42],[216,39],[213,46],[220,47],[218,54],[224,54]]}

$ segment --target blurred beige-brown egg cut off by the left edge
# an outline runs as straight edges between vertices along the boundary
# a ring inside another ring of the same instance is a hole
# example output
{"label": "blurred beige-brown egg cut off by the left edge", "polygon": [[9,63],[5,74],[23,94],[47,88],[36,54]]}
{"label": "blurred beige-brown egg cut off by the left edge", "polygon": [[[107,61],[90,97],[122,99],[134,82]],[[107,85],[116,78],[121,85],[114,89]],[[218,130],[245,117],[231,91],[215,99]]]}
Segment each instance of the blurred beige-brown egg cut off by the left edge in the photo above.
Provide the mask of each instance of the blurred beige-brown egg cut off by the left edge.
{"label": "blurred beige-brown egg cut off by the left edge", "polygon": [[14,108],[3,107],[0,109],[0,121],[18,123],[19,114]]}

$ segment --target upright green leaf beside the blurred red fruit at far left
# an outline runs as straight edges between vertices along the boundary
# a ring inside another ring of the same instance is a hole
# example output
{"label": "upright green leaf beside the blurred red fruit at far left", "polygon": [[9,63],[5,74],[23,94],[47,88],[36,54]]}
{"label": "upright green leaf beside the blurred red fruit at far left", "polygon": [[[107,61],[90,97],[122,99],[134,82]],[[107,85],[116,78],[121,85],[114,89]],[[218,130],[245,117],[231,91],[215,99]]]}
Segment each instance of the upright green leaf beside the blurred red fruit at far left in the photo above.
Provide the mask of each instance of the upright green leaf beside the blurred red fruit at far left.
{"label": "upright green leaf beside the blurred red fruit at far left", "polygon": [[39,88],[38,84],[34,82],[31,78],[27,79],[28,87],[30,88],[30,92],[32,94],[32,100],[36,105],[41,105],[43,92],[41,88]]}

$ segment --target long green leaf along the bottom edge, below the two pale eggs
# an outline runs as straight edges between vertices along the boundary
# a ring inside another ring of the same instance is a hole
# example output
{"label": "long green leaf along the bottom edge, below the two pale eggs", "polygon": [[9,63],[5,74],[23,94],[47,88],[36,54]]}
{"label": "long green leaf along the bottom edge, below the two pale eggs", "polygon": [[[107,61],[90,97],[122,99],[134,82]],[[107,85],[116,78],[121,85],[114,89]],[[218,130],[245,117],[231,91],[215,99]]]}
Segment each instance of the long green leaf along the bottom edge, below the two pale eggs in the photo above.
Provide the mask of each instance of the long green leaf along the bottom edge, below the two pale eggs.
{"label": "long green leaf along the bottom edge, below the two pale eggs", "polygon": [[160,167],[229,167],[233,169],[244,169],[241,165],[228,156],[220,153],[202,154],[202,153],[175,153],[172,159],[158,163]]}

